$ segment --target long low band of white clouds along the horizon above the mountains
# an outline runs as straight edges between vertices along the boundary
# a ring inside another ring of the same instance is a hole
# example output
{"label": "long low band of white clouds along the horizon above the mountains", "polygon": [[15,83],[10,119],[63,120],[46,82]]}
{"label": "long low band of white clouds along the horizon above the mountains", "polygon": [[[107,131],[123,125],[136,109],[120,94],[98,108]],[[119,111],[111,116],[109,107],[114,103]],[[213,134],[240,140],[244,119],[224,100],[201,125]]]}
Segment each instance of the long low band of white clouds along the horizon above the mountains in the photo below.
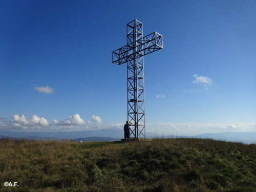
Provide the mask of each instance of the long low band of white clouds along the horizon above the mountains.
{"label": "long low band of white clouds along the horizon above the mountains", "polygon": [[[104,123],[96,115],[92,115],[94,123],[84,120],[79,114],[71,115],[64,120],[53,119],[50,123],[46,118],[33,115],[31,118],[24,114],[15,114],[11,118],[0,117],[0,130],[8,131],[86,131],[101,129],[123,129],[125,122]],[[256,132],[256,123],[193,123],[193,122],[155,122],[147,123],[146,131],[161,135],[193,136],[202,133],[221,132]]]}

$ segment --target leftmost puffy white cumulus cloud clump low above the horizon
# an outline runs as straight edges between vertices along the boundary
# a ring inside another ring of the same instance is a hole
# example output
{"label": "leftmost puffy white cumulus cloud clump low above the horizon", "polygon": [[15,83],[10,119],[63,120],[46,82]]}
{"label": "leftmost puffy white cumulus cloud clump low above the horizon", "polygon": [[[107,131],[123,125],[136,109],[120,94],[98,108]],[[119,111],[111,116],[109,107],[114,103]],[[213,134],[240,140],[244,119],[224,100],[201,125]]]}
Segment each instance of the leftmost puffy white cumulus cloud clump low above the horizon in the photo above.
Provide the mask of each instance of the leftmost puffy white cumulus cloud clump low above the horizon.
{"label": "leftmost puffy white cumulus cloud clump low above the horizon", "polygon": [[18,114],[15,114],[12,116],[14,123],[14,126],[22,126],[24,129],[26,129],[29,126],[36,126],[39,128],[39,126],[48,126],[50,123],[48,120],[46,120],[44,117],[38,117],[37,115],[33,115],[32,118],[26,118],[24,114],[19,116]]}

